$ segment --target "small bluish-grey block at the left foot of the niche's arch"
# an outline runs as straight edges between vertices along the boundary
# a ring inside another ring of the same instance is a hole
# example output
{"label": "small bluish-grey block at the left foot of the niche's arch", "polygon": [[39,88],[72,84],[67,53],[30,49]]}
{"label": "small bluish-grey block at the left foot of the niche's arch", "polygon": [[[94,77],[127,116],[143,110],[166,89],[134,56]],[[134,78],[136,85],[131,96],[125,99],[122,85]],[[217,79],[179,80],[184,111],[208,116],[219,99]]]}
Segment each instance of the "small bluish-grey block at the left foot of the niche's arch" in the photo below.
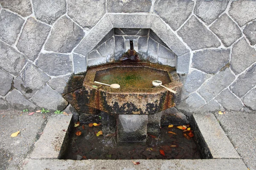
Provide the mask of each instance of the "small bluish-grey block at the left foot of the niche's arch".
{"label": "small bluish-grey block at the left foot of the niche's arch", "polygon": [[83,74],[87,70],[86,57],[73,53],[74,74]]}

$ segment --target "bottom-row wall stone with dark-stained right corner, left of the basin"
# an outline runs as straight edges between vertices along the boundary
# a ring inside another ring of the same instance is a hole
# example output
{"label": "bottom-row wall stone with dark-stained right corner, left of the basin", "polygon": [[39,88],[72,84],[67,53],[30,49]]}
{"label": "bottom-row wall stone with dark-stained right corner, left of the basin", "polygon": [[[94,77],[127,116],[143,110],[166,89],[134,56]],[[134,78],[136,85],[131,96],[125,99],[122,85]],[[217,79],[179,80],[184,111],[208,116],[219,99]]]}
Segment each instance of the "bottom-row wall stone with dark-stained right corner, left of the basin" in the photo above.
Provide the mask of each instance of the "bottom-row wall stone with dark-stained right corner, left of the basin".
{"label": "bottom-row wall stone with dark-stained right corner, left of the basin", "polygon": [[61,94],[52,90],[48,85],[41,88],[32,98],[39,107],[46,108],[51,111],[63,110],[68,102],[62,98]]}

